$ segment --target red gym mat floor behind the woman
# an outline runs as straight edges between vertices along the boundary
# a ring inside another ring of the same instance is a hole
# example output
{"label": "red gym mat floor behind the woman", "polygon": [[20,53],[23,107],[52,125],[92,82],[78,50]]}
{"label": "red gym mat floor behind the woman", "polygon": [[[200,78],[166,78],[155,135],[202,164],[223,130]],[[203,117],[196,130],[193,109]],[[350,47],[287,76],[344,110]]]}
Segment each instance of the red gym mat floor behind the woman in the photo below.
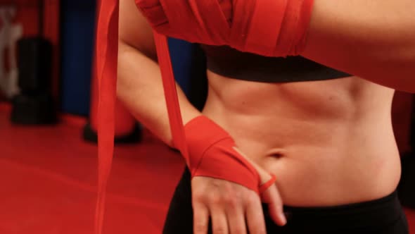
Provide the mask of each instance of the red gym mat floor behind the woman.
{"label": "red gym mat floor behind the woman", "polygon": [[[97,150],[82,140],[86,121],[23,127],[11,125],[9,112],[0,106],[0,233],[92,233]],[[183,168],[146,131],[141,144],[116,147],[104,233],[160,233]],[[415,211],[405,211],[415,234]]]}

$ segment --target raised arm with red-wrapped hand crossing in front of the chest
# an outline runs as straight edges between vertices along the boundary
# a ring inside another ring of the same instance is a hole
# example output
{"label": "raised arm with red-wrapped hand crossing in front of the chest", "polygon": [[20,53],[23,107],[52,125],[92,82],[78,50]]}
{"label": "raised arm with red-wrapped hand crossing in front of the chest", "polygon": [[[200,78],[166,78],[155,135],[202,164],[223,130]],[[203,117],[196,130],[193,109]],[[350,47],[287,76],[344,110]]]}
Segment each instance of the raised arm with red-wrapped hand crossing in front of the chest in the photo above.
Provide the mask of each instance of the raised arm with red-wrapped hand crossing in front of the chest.
{"label": "raised arm with red-wrapped hand crossing in front of the chest", "polygon": [[162,34],[264,56],[302,55],[415,92],[414,0],[159,1],[137,4]]}

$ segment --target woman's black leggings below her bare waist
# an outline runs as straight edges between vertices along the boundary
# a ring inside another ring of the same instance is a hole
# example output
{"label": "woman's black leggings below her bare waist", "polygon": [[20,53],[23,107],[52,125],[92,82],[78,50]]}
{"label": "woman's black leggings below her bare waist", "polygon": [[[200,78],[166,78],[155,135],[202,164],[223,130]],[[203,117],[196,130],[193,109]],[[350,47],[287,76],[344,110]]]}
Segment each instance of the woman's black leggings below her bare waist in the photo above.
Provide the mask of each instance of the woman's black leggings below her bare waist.
{"label": "woman's black leggings below her bare waist", "polygon": [[[409,234],[407,218],[396,192],[370,202],[337,207],[285,207],[288,223],[273,223],[264,207],[269,234]],[[184,172],[167,214],[163,234],[192,234],[191,180]],[[212,233],[209,230],[209,233]],[[255,234],[255,233],[252,233]]]}

